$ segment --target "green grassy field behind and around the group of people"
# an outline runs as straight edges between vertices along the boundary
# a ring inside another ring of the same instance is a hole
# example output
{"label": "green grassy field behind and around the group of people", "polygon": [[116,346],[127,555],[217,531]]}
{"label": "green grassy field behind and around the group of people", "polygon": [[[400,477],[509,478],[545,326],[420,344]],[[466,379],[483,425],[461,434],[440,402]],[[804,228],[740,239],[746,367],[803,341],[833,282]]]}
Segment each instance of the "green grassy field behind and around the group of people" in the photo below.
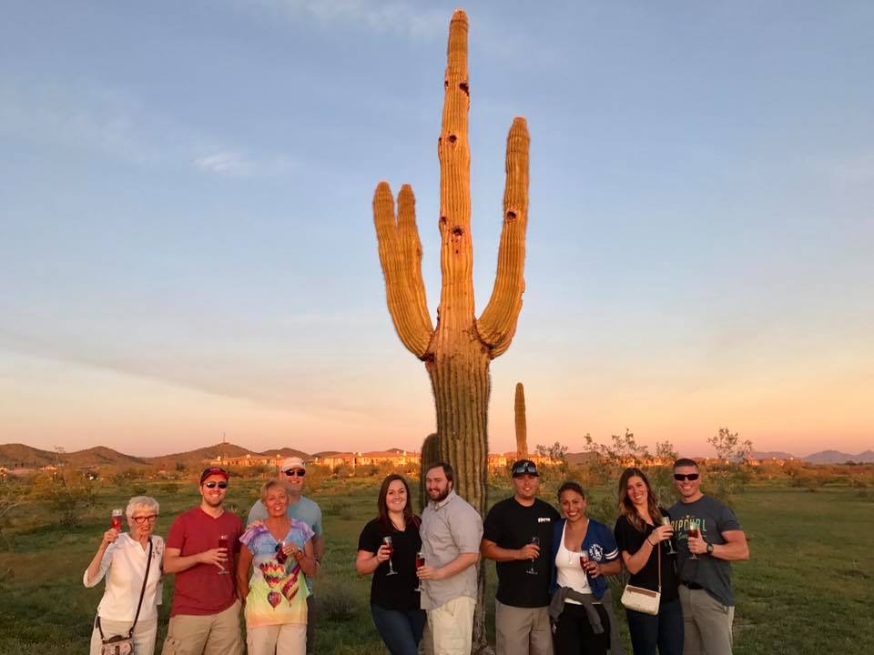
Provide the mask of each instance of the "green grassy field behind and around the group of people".
{"label": "green grassy field behind and around the group of people", "polygon": [[[228,506],[245,517],[256,480],[241,480]],[[197,489],[140,484],[161,502],[158,534],[197,500]],[[370,579],[353,568],[361,527],[374,514],[372,481],[328,480],[313,494],[325,515],[327,554],[316,597],[322,610],[316,651],[338,655],[383,652],[367,606]],[[77,529],[51,525],[38,506],[21,508],[0,551],[0,653],[84,653],[102,585],[82,586],[109,509],[131,493],[101,489],[95,516]],[[505,495],[493,489],[492,499]],[[544,498],[552,499],[551,494]],[[735,566],[736,649],[739,655],[862,652],[874,643],[874,493],[827,488],[817,492],[752,487],[734,502],[752,558]],[[494,568],[489,566],[490,584]],[[165,582],[158,652],[167,626],[172,576]],[[490,594],[491,596],[492,594]],[[620,612],[620,615],[622,613]],[[489,620],[493,607],[489,608]],[[624,620],[624,617],[623,617]],[[623,628],[625,631],[625,628]]]}

